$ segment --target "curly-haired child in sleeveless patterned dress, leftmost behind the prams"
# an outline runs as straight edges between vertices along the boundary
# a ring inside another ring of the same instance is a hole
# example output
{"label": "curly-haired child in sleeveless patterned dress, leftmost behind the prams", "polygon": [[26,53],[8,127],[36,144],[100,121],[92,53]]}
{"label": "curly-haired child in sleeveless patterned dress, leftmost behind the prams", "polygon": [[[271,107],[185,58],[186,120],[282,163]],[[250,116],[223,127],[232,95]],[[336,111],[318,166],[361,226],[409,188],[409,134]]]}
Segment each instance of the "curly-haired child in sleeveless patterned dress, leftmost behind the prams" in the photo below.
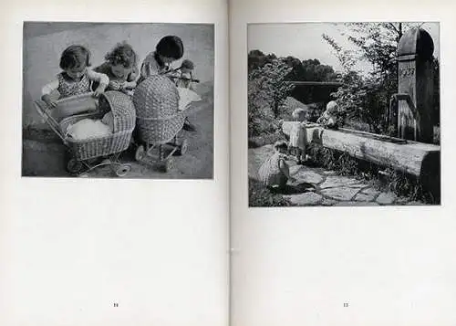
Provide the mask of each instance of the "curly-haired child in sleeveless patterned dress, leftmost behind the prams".
{"label": "curly-haired child in sleeveless patterned dress, leftmost behind the prams", "polygon": [[51,98],[51,93],[56,90],[60,94],[59,98],[64,99],[90,92],[92,82],[98,82],[95,96],[102,93],[108,86],[108,76],[88,68],[90,53],[86,47],[76,45],[67,47],[60,57],[59,66],[63,71],[57,75],[56,80],[48,83],[41,91],[41,100],[52,108],[57,107],[57,102]]}

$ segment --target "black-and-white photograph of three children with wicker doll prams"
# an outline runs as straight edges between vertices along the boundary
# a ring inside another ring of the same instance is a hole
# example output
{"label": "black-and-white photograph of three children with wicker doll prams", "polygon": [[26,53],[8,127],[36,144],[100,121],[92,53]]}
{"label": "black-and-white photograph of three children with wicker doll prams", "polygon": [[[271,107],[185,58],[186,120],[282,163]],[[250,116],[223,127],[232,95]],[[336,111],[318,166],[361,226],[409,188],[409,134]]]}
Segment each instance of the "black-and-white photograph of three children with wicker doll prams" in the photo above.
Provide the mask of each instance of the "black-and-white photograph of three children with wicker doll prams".
{"label": "black-and-white photograph of three children with wicker doll prams", "polygon": [[22,176],[212,179],[212,24],[25,22]]}

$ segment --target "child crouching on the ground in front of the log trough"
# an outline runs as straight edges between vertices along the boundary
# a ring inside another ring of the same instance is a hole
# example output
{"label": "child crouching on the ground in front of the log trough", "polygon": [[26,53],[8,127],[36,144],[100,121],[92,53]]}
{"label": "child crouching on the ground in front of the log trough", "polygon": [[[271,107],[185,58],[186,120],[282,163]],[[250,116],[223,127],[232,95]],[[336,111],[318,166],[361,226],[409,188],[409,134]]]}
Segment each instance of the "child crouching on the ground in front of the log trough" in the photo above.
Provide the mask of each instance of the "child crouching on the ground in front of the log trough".
{"label": "child crouching on the ground in front of the log trough", "polygon": [[275,153],[270,156],[260,167],[258,175],[261,182],[272,191],[281,191],[285,189],[285,184],[290,179],[288,164],[286,163],[285,153],[288,145],[285,141],[277,141],[274,144]]}

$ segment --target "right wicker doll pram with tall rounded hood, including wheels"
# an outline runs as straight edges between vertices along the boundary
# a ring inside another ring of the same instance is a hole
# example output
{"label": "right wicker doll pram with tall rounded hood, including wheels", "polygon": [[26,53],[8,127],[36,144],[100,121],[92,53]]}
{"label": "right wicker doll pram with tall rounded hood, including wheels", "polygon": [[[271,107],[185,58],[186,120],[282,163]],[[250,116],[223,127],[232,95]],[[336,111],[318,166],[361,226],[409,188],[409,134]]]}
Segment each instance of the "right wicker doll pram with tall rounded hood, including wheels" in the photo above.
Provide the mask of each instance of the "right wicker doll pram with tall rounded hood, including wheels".
{"label": "right wicker doll pram with tall rounded hood, including wheels", "polygon": [[179,110],[179,92],[171,79],[152,76],[135,89],[136,136],[142,144],[135,158],[140,163],[158,165],[163,171],[172,167],[171,156],[187,150],[180,131],[185,114]]}

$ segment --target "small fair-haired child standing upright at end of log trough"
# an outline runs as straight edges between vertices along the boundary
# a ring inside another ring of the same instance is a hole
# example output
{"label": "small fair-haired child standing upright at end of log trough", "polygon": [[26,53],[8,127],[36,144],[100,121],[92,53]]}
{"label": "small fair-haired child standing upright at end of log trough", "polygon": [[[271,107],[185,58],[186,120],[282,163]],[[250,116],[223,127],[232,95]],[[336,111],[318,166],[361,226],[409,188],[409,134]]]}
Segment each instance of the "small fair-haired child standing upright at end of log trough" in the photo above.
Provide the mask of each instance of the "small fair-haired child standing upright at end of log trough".
{"label": "small fair-haired child standing upright at end of log trough", "polygon": [[290,143],[288,150],[295,153],[296,163],[302,164],[306,162],[306,120],[307,112],[304,109],[297,108],[292,113],[295,123],[290,130]]}

